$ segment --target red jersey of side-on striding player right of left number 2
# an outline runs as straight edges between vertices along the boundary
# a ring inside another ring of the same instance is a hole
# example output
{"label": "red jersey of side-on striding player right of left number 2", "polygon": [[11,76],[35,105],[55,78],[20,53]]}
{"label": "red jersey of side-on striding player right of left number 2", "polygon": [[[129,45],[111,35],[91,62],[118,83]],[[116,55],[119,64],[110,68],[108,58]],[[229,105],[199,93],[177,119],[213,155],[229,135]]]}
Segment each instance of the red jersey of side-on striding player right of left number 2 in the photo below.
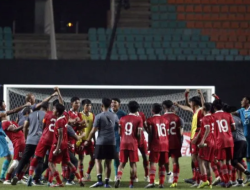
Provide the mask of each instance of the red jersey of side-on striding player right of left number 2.
{"label": "red jersey of side-on striding player right of left number 2", "polygon": [[61,150],[66,149],[68,147],[67,125],[68,125],[68,121],[67,121],[65,115],[59,117],[56,120],[56,123],[55,123],[55,129],[54,129],[55,132],[54,132],[53,144],[57,145],[58,137],[59,137],[58,130],[63,129],[63,138],[62,138]]}

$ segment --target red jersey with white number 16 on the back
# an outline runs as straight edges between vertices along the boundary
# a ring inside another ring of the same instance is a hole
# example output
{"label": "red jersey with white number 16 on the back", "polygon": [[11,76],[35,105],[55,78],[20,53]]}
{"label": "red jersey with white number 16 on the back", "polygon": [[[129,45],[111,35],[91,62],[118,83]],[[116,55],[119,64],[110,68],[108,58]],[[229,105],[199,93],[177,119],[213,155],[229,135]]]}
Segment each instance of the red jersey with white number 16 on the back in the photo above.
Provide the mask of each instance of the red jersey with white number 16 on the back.
{"label": "red jersey with white number 16 on the back", "polygon": [[154,115],[147,120],[148,126],[151,128],[149,136],[149,150],[154,152],[168,152],[168,130],[169,123],[160,114]]}

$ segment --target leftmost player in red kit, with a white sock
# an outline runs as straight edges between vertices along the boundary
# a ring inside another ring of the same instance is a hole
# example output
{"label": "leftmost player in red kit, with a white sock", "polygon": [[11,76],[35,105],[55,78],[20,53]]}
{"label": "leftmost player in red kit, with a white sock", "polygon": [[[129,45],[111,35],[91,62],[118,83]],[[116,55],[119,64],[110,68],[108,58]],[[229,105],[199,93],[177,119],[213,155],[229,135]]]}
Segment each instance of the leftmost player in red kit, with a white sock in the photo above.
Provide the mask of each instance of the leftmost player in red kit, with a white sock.
{"label": "leftmost player in red kit, with a white sock", "polygon": [[[29,110],[29,108],[28,108]],[[24,110],[25,111],[25,110]],[[7,116],[2,118],[2,128],[6,135],[9,137],[14,147],[14,157],[11,166],[9,167],[6,179],[3,184],[10,185],[11,184],[11,175],[14,170],[17,168],[19,161],[22,158],[22,154],[25,149],[25,138],[22,132],[23,126],[18,126],[17,123],[11,122],[7,120]]]}

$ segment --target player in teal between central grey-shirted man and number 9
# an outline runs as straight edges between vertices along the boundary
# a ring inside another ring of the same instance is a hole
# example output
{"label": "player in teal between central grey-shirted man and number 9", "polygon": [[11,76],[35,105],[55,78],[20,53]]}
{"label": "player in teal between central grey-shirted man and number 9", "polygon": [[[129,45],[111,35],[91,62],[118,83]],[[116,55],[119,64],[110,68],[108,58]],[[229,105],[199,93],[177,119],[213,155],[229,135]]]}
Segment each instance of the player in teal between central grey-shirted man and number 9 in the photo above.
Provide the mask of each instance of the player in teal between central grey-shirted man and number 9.
{"label": "player in teal between central grey-shirted man and number 9", "polygon": [[[119,98],[112,98],[111,109],[110,111],[115,113],[118,116],[118,119],[121,119],[123,116],[127,115],[123,110],[120,109],[121,100]],[[116,140],[116,157],[114,159],[114,168],[115,168],[115,181],[117,179],[118,167],[120,165],[119,153],[120,153],[120,135],[118,133],[119,126],[115,125],[115,140]]]}

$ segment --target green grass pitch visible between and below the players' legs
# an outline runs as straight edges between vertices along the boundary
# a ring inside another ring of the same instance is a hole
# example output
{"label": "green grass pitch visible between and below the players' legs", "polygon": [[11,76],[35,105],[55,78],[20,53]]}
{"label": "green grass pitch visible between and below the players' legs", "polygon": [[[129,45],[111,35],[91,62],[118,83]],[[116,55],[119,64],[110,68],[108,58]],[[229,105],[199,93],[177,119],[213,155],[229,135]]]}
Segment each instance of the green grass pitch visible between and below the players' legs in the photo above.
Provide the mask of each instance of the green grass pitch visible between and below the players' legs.
{"label": "green grass pitch visible between and below the players' legs", "polygon": [[[87,169],[88,167],[88,161],[89,158],[85,157],[85,161],[84,161],[84,166],[85,169]],[[0,164],[2,165],[3,159],[0,159]],[[178,183],[178,187],[177,189],[188,189],[190,188],[190,184],[186,184],[184,183],[184,179],[186,178],[190,178],[192,173],[191,173],[191,168],[190,168],[190,162],[191,162],[191,157],[183,157],[180,158],[180,176],[179,176],[179,183]],[[0,165],[0,166],[1,166]],[[144,188],[148,183],[144,181],[144,169],[143,169],[143,165],[142,165],[142,159],[140,159],[140,162],[137,164],[138,167],[138,178],[139,178],[139,182],[134,184],[134,189],[142,189]],[[170,166],[170,168],[172,168],[172,166]],[[58,165],[58,170],[61,171],[61,168]],[[92,173],[92,182],[87,182],[85,184],[85,187],[83,188],[89,188],[90,185],[92,185],[95,181],[96,181],[96,169],[94,167]],[[157,175],[158,176],[158,175]],[[111,179],[114,179],[114,172],[112,170],[112,174],[111,174]],[[129,165],[126,166],[124,172],[123,172],[123,176],[122,176],[122,181],[121,181],[121,186],[119,189],[128,189],[129,186]],[[164,187],[165,188],[169,188],[170,184],[165,184]],[[111,182],[111,186],[114,186],[114,182]],[[25,185],[16,185],[16,186],[6,186],[3,184],[0,184],[0,189],[6,189],[6,190],[27,190],[27,189],[47,189],[48,187],[27,187]],[[70,186],[70,187],[64,187],[64,189],[77,189],[77,188],[82,188],[79,187],[78,185],[76,186]],[[157,188],[157,186],[156,186]],[[170,189],[170,188],[169,188]],[[208,189],[208,188],[207,188]],[[221,189],[220,187],[213,187],[213,189]]]}

